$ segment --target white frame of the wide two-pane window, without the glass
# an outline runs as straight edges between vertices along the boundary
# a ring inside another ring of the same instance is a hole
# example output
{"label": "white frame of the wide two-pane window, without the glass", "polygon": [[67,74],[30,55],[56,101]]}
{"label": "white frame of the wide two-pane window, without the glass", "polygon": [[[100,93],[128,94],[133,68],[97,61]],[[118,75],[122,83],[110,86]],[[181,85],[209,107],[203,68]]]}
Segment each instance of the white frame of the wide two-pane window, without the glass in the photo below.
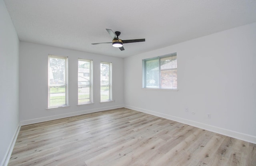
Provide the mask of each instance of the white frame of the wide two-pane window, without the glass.
{"label": "white frame of the wide two-pane window, without the glass", "polygon": [[[174,57],[176,56],[177,59],[177,53],[170,53],[158,57],[152,57],[148,59],[142,59],[142,89],[152,89],[152,90],[168,90],[168,91],[178,91],[178,81],[177,81],[177,88],[166,88],[166,87],[161,87],[161,65],[160,65],[160,59],[166,58],[166,57]],[[147,87],[146,85],[146,62],[147,61],[152,61],[158,59],[158,72],[159,72],[159,77],[158,77],[158,87]],[[178,68],[178,67],[177,67]],[[177,70],[177,68],[172,68],[173,70]],[[178,76],[177,76],[178,77]]]}

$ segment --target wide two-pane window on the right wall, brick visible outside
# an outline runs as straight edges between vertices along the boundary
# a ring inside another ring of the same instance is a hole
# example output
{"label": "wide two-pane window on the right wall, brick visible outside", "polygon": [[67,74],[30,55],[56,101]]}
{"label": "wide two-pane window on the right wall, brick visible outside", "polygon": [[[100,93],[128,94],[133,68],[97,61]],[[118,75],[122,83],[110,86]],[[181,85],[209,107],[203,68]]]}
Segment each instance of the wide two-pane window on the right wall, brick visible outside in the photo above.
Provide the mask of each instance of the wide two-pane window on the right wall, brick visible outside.
{"label": "wide two-pane window on the right wall, brick visible outside", "polygon": [[177,54],[142,60],[143,88],[177,89]]}

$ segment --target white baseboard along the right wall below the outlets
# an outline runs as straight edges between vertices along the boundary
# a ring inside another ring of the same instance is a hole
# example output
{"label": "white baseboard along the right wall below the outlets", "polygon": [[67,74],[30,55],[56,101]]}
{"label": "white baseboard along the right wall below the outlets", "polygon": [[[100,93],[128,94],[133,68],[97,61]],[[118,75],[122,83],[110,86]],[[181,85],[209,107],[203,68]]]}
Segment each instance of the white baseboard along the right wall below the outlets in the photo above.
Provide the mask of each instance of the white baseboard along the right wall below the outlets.
{"label": "white baseboard along the right wall below the outlets", "polygon": [[190,126],[195,126],[195,127],[198,127],[198,128],[202,128],[202,129],[205,129],[205,130],[216,132],[218,134],[230,136],[232,138],[237,138],[237,139],[240,139],[240,140],[244,140],[244,141],[256,144],[256,136],[252,136],[252,135],[244,134],[244,133],[241,133],[241,132],[228,130],[228,129],[225,129],[225,128],[212,126],[212,125],[209,125],[209,124],[199,123],[199,122],[196,122],[196,121],[191,121],[191,120],[188,120],[188,119],[183,119],[183,118],[180,118],[180,117],[175,117],[175,116],[171,116],[171,115],[167,115],[167,114],[163,114],[163,113],[158,113],[158,112],[154,112],[154,111],[150,111],[150,110],[146,110],[146,109],[141,109],[141,108],[138,108],[138,107],[132,107],[132,106],[129,106],[129,105],[125,105],[124,107],[128,108],[128,109],[135,110],[135,111],[140,111],[140,112],[143,112],[143,113],[147,113],[147,114],[150,114],[150,115],[155,115],[157,117],[170,119],[172,121],[188,124]]}

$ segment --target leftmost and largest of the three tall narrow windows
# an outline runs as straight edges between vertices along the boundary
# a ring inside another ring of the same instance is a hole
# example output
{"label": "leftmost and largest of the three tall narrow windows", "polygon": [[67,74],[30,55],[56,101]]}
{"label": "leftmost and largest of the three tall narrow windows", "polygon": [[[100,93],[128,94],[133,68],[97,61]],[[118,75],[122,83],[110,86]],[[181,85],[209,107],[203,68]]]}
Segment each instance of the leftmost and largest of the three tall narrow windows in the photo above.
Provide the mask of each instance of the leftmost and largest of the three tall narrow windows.
{"label": "leftmost and largest of the three tall narrow windows", "polygon": [[48,108],[68,106],[68,57],[48,55]]}

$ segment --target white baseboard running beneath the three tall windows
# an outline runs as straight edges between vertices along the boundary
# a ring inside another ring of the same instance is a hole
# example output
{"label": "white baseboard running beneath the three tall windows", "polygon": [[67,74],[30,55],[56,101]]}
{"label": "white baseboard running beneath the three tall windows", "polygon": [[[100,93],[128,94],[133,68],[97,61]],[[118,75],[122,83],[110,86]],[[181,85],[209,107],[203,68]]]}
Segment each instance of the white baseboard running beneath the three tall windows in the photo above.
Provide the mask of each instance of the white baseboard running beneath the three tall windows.
{"label": "white baseboard running beneath the three tall windows", "polygon": [[78,112],[74,112],[74,113],[66,113],[66,114],[54,115],[54,116],[50,116],[50,117],[29,119],[29,120],[25,120],[25,121],[20,121],[20,124],[21,124],[21,126],[24,126],[24,125],[27,125],[27,124],[34,124],[34,123],[52,121],[52,120],[55,120],[55,119],[73,117],[73,116],[84,115],[84,114],[89,114],[89,113],[96,113],[96,112],[99,112],[99,111],[106,111],[106,110],[110,110],[110,109],[118,109],[118,108],[122,108],[122,107],[124,107],[124,105],[116,105],[116,106],[111,106],[111,107],[102,107],[102,108],[97,108],[97,109],[89,109],[89,110],[78,111]]}

